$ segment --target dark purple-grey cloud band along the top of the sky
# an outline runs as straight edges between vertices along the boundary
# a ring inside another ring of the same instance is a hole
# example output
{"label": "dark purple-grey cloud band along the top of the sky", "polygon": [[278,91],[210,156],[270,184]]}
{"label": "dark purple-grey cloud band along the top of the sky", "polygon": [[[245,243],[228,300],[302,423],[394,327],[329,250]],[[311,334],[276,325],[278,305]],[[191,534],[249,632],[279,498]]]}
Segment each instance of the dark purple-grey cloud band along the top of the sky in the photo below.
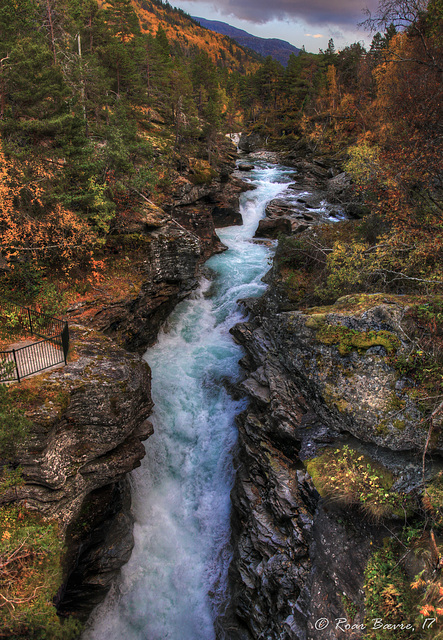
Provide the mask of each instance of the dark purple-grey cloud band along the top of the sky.
{"label": "dark purple-grey cloud band along the top of the sky", "polygon": [[[194,0],[203,2],[207,0]],[[224,15],[232,15],[256,24],[270,20],[304,20],[308,24],[340,24],[355,26],[363,19],[363,9],[372,11],[377,0],[219,0],[214,8]]]}

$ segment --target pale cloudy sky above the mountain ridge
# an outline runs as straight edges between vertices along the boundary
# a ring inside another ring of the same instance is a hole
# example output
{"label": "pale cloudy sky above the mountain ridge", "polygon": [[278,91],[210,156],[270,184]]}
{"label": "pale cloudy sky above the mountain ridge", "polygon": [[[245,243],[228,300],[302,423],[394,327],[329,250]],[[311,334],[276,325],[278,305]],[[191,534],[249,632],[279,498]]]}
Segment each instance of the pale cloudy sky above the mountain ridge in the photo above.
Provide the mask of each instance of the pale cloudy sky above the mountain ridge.
{"label": "pale cloudy sky above the mountain ridge", "polygon": [[280,38],[306,51],[326,49],[330,38],[336,49],[372,36],[357,24],[365,8],[374,12],[377,0],[169,0],[191,16],[221,20],[262,38]]}

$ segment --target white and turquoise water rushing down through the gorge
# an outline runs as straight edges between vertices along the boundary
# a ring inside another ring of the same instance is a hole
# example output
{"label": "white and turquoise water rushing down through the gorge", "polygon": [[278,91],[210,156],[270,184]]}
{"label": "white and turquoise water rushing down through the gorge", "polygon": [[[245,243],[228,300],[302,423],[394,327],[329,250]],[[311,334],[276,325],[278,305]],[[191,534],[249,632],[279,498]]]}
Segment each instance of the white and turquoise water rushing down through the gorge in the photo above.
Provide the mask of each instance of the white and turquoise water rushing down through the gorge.
{"label": "white and turquoise water rushing down through the gorge", "polygon": [[132,474],[135,547],[84,640],[215,638],[230,562],[234,419],[245,406],[223,386],[238,378],[242,357],[229,329],[242,319],[237,300],[265,288],[272,248],[251,238],[293,174],[265,161],[254,166],[244,224],[219,230],[229,250],[207,262],[213,279],[176,308],[146,353],[155,433]]}

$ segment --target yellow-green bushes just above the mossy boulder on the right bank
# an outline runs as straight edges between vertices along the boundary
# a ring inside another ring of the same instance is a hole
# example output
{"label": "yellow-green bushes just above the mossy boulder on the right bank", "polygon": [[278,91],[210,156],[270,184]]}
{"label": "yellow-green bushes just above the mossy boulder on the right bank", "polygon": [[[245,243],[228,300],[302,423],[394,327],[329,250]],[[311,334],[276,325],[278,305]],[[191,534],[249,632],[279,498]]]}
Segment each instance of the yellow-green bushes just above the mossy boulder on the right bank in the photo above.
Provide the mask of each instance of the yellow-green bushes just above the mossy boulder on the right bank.
{"label": "yellow-green bushes just above the mossy boulder on the right bank", "polygon": [[281,237],[281,290],[298,308],[333,304],[355,293],[437,295],[443,280],[439,261],[425,246],[427,237],[415,240],[408,248],[376,215]]}

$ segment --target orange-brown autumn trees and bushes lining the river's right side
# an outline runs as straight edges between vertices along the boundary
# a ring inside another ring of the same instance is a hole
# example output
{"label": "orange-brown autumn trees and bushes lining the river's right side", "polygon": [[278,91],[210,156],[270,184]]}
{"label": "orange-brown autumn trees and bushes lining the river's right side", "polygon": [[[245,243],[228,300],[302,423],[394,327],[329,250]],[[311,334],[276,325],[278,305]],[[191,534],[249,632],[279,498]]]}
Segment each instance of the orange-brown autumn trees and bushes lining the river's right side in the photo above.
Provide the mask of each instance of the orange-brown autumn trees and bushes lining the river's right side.
{"label": "orange-brown autumn trees and bushes lining the river's right side", "polygon": [[352,236],[326,233],[317,247],[325,301],[443,284],[443,3],[382,0],[365,26],[376,31],[368,50],[336,51],[331,40],[287,69],[267,59],[240,83],[251,131],[279,148],[303,140],[335,157],[366,207]]}

